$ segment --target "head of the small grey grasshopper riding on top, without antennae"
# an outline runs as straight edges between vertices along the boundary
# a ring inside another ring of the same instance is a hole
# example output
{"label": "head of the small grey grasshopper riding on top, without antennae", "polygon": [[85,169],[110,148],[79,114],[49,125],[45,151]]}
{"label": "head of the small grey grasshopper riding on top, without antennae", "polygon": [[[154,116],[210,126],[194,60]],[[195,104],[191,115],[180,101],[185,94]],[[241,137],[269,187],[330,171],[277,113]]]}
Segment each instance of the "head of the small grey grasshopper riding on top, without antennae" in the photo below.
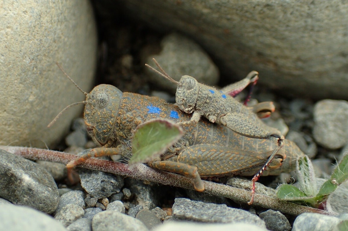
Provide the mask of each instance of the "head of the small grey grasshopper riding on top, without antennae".
{"label": "head of the small grey grasshopper riding on top, without antennae", "polygon": [[[199,83],[197,80],[189,75],[183,75],[177,85],[175,101],[180,110],[186,113],[192,113],[191,110],[196,106],[199,92]],[[190,110],[186,110],[191,108]]]}

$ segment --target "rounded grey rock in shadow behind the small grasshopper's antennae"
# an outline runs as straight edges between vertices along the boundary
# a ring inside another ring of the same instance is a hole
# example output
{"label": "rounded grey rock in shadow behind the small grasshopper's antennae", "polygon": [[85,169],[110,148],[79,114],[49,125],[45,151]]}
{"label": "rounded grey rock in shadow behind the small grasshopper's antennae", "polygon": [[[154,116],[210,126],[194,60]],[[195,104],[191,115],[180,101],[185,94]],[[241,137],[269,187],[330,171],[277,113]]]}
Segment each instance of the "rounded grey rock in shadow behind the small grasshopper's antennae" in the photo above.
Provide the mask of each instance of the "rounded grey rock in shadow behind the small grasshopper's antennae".
{"label": "rounded grey rock in shadow behind the small grasshopper's antennae", "polygon": [[[190,75],[199,83],[214,85],[219,80],[219,70],[207,53],[194,41],[177,33],[172,33],[161,41],[161,52],[158,55],[149,55],[144,62],[153,66],[155,58],[164,71],[174,80],[179,81],[181,76]],[[148,68],[147,68],[148,69]],[[168,81],[152,70],[146,70],[150,81],[173,93],[177,84]]]}

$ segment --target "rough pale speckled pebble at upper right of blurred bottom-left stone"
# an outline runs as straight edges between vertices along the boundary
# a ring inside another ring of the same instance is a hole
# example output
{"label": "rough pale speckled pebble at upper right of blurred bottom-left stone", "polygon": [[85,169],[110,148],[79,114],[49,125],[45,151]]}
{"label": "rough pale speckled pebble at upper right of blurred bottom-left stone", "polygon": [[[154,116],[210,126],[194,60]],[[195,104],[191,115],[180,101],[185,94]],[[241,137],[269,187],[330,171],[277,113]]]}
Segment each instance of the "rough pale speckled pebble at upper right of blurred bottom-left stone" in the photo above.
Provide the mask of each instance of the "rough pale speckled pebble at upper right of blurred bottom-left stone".
{"label": "rough pale speckled pebble at upper right of blurred bottom-left stone", "polygon": [[62,223],[65,227],[81,218],[85,214],[83,208],[78,205],[64,205],[54,216],[54,218]]}

